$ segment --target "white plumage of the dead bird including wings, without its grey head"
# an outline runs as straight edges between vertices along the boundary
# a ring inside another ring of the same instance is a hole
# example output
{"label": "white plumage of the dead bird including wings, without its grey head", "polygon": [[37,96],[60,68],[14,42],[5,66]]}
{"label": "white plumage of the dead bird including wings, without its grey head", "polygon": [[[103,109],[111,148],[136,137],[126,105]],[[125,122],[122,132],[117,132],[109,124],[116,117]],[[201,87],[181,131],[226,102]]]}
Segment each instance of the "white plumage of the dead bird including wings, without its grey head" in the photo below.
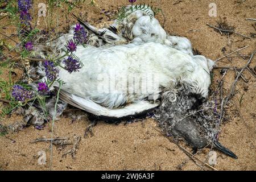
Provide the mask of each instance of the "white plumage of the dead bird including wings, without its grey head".
{"label": "white plumage of the dead bird including wings, without its grey head", "polygon": [[[94,115],[122,118],[158,106],[155,101],[162,89],[175,92],[177,83],[207,98],[213,61],[193,56],[189,40],[167,35],[154,16],[150,18],[144,11],[137,10],[123,20],[135,21],[131,26],[133,40],[129,44],[125,44],[121,34],[97,30],[79,21],[100,34],[106,44],[77,46],[75,55],[84,67],[72,74],[60,69],[59,78],[65,82],[60,91],[64,101]],[[118,28],[117,22],[113,27]],[[52,45],[63,55],[65,42],[72,38],[73,29]]]}

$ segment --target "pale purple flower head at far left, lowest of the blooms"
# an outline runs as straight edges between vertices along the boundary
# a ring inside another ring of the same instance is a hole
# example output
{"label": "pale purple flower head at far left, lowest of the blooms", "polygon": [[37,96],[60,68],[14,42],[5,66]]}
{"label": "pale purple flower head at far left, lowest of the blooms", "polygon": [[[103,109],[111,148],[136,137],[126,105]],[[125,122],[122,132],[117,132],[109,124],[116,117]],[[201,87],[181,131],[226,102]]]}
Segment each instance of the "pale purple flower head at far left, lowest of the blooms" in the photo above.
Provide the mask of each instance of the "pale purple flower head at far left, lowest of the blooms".
{"label": "pale purple flower head at far left, lowest of the blooms", "polygon": [[33,92],[24,89],[23,86],[14,85],[11,92],[11,96],[13,96],[16,101],[24,102],[32,98],[34,94]]}

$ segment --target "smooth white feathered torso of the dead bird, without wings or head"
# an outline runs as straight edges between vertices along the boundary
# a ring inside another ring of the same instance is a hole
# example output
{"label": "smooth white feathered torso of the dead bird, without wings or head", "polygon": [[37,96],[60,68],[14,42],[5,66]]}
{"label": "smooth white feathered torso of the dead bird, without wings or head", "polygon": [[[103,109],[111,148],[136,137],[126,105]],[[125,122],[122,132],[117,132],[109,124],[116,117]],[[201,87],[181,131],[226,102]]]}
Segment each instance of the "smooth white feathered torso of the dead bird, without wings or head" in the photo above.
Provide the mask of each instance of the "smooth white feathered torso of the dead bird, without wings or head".
{"label": "smooth white feathered torso of the dead bird, without wings or head", "polygon": [[84,67],[69,74],[60,69],[62,89],[113,108],[155,98],[161,89],[177,82],[187,84],[195,93],[208,95],[210,85],[207,59],[190,56],[154,42],[133,42],[114,47],[77,47]]}

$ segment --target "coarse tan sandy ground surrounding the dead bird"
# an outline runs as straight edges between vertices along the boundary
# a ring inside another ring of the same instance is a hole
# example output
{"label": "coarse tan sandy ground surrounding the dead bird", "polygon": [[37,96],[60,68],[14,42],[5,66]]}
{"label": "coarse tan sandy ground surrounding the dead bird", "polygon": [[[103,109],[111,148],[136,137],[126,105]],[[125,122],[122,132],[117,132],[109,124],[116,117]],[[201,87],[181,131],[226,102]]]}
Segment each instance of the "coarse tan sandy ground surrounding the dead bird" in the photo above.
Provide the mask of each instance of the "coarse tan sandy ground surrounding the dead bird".
{"label": "coarse tan sandy ground surrounding the dead bird", "polygon": [[[34,1],[34,14],[37,12],[37,2]],[[44,2],[44,1],[40,1]],[[100,9],[116,10],[118,6],[127,5],[127,1],[97,1]],[[193,47],[202,55],[216,60],[218,57],[235,51],[238,48],[249,46],[240,51],[241,54],[250,55],[256,47],[255,38],[245,39],[239,35],[221,35],[219,32],[209,28],[206,23],[216,25],[216,21],[221,19],[233,27],[241,34],[250,36],[255,33],[255,22],[246,21],[245,18],[256,18],[256,2],[251,1],[214,1],[217,5],[217,17],[208,15],[209,3],[212,1],[139,1],[151,3],[160,7],[165,16],[165,30],[170,34],[186,36],[191,40]],[[72,24],[74,20],[68,16],[65,18],[63,10],[56,10],[56,17],[61,21],[61,27]],[[81,13],[92,24],[100,23],[98,20],[102,15],[99,8],[84,5],[74,13]],[[162,15],[158,19],[163,23]],[[102,19],[104,22],[108,18]],[[3,20],[2,20],[3,21]],[[56,21],[57,23],[60,23]],[[56,25],[56,23],[55,23]],[[44,20],[40,19],[39,28],[43,28]],[[1,30],[6,34],[10,31]],[[222,49],[225,47],[226,51]],[[234,54],[233,56],[236,56]],[[222,59],[218,66],[222,67],[242,67],[247,63],[241,57],[232,57]],[[251,67],[256,65],[256,56]],[[1,77],[6,77],[6,71]],[[220,69],[214,69],[214,78],[211,88],[216,88],[217,82],[221,78]],[[224,82],[224,94],[229,93],[235,73],[228,71]],[[228,106],[228,122],[221,126],[220,142],[232,150],[238,159],[228,158],[218,152],[217,165],[214,168],[218,170],[255,170],[256,169],[256,98],[255,88],[256,79],[245,71],[244,76],[247,83],[239,80],[237,84],[237,94],[231,100]],[[13,76],[15,79],[15,76]],[[240,98],[243,100],[240,105]],[[0,102],[0,105],[3,103]],[[79,115],[79,113],[73,113]],[[81,113],[80,113],[81,115]],[[3,118],[3,124],[22,122],[19,115]],[[89,125],[88,119],[82,117],[79,121],[73,121],[70,117],[62,117],[55,123],[54,136],[67,137],[71,141],[75,136],[81,136],[79,148],[75,159],[71,155],[63,157],[71,146],[62,150],[57,150],[53,146],[52,164],[50,144],[47,142],[30,143],[32,140],[40,137],[51,138],[50,126],[46,125],[43,130],[36,130],[34,127],[28,127],[21,131],[7,134],[6,137],[0,137],[0,169],[2,170],[122,170],[122,169],[142,169],[142,170],[200,170],[188,156],[180,150],[176,144],[170,142],[166,137],[160,134],[156,121],[154,119],[144,119],[124,125],[99,122],[93,128],[93,136],[83,138],[85,127]],[[14,142],[15,141],[15,142]],[[181,143],[187,151],[191,148]],[[39,151],[46,152],[46,164],[38,163]],[[205,161],[208,149],[204,149],[197,158]],[[179,168],[180,164],[183,167]],[[199,163],[199,162],[198,162]],[[201,164],[200,164],[201,165]],[[205,169],[210,169],[204,166]]]}

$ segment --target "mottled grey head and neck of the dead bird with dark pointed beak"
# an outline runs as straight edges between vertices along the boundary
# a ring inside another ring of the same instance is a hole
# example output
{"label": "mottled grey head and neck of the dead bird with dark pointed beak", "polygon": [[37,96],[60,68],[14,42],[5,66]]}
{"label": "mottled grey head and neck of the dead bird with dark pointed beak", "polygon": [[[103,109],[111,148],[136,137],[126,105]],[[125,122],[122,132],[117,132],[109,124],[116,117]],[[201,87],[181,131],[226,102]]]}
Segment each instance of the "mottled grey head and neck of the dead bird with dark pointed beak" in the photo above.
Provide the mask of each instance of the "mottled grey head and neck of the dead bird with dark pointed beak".
{"label": "mottled grey head and neck of the dead bird with dark pointed beak", "polygon": [[184,86],[174,92],[163,94],[162,104],[155,115],[167,136],[184,139],[194,150],[206,146],[224,154],[237,156],[216,139],[218,115],[213,111],[214,104],[204,100],[200,94],[189,93]]}

